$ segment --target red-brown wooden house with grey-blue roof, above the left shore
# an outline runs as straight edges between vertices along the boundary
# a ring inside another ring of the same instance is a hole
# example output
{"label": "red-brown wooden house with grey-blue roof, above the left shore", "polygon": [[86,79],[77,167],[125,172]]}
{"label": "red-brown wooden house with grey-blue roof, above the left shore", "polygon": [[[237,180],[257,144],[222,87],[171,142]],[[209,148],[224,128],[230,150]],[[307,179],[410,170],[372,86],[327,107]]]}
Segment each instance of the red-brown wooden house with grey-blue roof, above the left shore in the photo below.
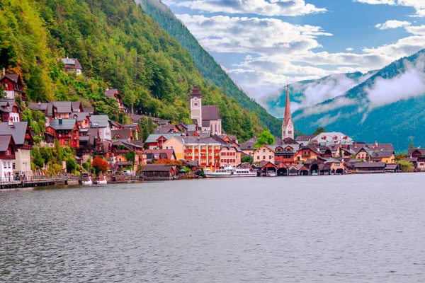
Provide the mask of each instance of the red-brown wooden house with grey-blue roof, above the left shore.
{"label": "red-brown wooden house with grey-blue roof, above the left shore", "polygon": [[79,149],[79,127],[75,119],[58,119],[50,121],[46,132],[55,135],[61,146]]}

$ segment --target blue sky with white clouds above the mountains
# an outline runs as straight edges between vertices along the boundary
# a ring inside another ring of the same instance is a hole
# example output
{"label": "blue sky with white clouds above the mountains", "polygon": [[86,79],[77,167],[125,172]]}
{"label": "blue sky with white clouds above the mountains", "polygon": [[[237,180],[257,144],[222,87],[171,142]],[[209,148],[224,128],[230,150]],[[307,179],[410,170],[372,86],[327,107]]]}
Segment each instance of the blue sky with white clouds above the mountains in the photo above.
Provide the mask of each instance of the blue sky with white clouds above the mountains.
{"label": "blue sky with white clouds above the mountains", "polygon": [[162,1],[256,100],[425,48],[425,0]]}

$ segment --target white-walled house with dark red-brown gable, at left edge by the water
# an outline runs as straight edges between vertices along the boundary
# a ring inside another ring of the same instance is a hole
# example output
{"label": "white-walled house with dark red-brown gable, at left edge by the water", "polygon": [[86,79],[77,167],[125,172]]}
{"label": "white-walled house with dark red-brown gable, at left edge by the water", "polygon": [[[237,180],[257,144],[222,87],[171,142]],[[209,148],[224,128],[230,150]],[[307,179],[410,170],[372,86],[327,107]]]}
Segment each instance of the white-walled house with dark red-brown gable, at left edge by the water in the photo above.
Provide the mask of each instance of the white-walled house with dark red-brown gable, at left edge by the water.
{"label": "white-walled house with dark red-brown gable, at left edge by the water", "polygon": [[0,181],[13,180],[13,160],[16,159],[15,141],[11,134],[0,135]]}

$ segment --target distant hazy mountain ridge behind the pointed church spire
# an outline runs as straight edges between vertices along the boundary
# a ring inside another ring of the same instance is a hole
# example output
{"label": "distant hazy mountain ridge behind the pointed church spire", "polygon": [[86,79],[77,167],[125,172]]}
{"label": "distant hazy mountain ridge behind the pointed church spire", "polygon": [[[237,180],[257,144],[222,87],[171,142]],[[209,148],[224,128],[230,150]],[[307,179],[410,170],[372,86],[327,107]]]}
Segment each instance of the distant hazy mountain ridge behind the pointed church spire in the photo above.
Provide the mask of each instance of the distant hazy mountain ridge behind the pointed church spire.
{"label": "distant hazy mountain ridge behind the pointed church spire", "polygon": [[[346,91],[369,79],[375,72],[370,71],[367,74],[362,74],[361,72],[331,74],[322,79],[291,83],[289,85],[291,108],[293,110],[306,108],[325,100],[342,96]],[[268,112],[271,112],[276,117],[282,117],[285,99],[286,87],[283,87],[277,93],[263,97],[261,102],[265,105]]]}

